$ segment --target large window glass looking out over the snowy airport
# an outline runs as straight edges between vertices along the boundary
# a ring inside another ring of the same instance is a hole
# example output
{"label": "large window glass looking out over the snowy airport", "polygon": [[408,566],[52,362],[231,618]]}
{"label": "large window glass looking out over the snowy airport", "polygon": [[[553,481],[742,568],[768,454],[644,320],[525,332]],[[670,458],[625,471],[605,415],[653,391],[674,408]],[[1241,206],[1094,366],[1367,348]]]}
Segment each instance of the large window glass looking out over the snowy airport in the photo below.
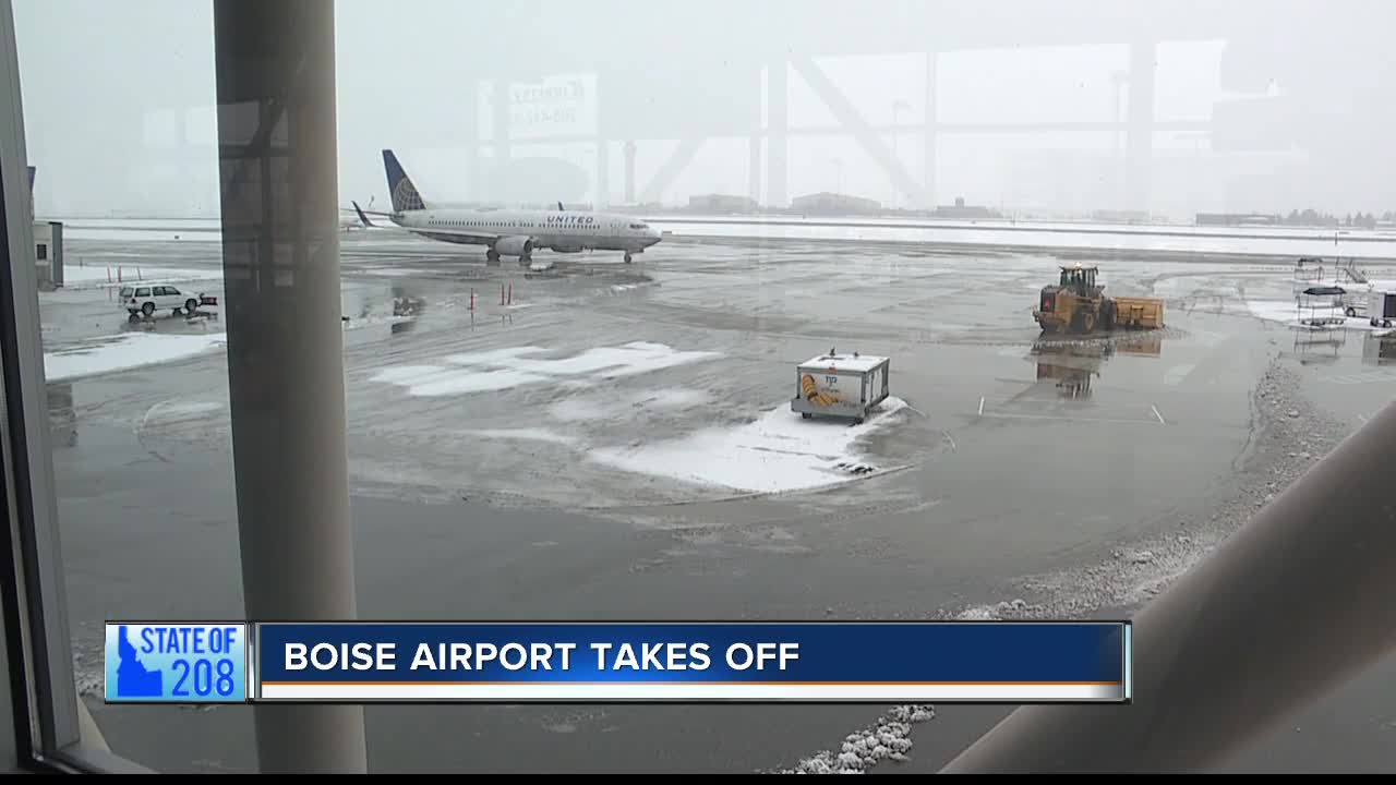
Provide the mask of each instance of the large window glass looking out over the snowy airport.
{"label": "large window glass looking out over the snowy airport", "polygon": [[[103,620],[243,615],[239,286],[338,277],[371,619],[1132,615],[1390,399],[1396,6],[581,7],[336,3],[320,258],[222,235],[304,197],[320,142],[216,105],[212,4],[15,0],[35,218],[63,223],[35,261],[63,271],[77,673],[114,751],[254,765],[243,707],[99,694]],[[269,162],[222,179],[221,137]],[[117,302],[152,281],[216,305]],[[282,306],[248,335],[309,310]],[[885,399],[797,372],[854,352],[891,358]],[[1393,666],[1235,765],[1396,765],[1364,703]],[[747,772],[934,771],[1007,711],[366,714],[378,771]]]}

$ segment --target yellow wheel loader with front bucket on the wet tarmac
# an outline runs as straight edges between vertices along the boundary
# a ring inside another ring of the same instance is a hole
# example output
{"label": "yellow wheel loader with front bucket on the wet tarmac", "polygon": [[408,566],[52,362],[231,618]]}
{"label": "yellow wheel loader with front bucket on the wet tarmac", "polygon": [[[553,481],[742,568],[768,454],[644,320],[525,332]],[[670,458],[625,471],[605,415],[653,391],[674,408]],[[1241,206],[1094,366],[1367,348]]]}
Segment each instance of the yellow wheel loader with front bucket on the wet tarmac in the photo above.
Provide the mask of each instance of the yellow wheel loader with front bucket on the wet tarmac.
{"label": "yellow wheel loader with front bucket on the wet tarmac", "polygon": [[1163,327],[1163,300],[1107,298],[1096,284],[1094,265],[1061,265],[1061,279],[1043,286],[1033,318],[1043,332],[1086,335],[1097,330],[1154,330]]}

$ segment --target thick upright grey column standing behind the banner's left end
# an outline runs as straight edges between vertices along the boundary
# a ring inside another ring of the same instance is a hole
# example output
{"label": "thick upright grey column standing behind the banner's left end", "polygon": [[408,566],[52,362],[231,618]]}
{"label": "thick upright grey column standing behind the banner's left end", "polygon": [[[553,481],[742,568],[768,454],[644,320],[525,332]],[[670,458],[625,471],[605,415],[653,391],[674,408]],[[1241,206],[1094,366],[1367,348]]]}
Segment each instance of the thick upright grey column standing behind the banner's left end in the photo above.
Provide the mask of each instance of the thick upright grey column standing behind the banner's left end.
{"label": "thick upright grey column standing behind the banner's left end", "polygon": [[[352,620],[332,0],[215,0],[247,617]],[[264,772],[363,772],[363,708],[258,705]]]}

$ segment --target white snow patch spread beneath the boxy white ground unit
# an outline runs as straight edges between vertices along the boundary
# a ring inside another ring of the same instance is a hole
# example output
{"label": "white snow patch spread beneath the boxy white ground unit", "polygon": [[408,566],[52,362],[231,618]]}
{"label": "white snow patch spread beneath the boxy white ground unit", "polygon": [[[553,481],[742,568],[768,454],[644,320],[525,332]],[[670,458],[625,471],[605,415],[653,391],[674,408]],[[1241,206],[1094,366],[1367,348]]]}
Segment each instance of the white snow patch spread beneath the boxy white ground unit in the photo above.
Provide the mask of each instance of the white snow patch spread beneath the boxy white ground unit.
{"label": "white snow patch spread beneath the boxy white ground unit", "polygon": [[618,469],[698,485],[754,493],[804,490],[875,472],[875,467],[859,460],[856,444],[899,420],[893,415],[905,408],[906,401],[888,398],[867,422],[849,426],[845,420],[805,420],[789,405],[782,405],[733,429],[702,430],[628,448],[593,450],[589,455]]}

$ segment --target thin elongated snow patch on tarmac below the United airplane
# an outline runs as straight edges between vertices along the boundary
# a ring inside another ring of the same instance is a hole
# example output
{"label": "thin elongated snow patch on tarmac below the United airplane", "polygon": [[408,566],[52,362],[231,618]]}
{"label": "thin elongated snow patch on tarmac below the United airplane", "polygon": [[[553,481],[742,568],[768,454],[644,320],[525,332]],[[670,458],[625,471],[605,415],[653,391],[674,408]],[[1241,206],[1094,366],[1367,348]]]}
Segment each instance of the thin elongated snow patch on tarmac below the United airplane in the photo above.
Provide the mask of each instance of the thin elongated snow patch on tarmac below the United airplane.
{"label": "thin elongated snow patch on tarmac below the United airplane", "polygon": [[459,395],[511,387],[578,381],[577,377],[617,379],[716,358],[716,352],[680,352],[642,341],[597,346],[570,358],[535,358],[540,346],[511,346],[444,358],[450,365],[392,366],[373,381],[406,387],[409,395]]}

